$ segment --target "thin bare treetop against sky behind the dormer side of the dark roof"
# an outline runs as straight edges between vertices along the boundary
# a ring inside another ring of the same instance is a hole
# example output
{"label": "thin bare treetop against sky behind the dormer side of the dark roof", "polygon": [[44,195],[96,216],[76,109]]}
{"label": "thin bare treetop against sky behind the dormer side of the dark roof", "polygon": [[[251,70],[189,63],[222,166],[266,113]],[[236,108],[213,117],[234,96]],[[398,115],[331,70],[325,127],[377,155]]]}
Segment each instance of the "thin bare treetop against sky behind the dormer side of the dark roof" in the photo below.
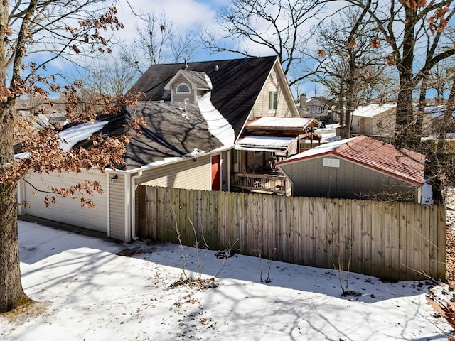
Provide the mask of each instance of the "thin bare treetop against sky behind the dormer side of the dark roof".
{"label": "thin bare treetop against sky behind the dormer side of the dark roof", "polygon": [[176,63],[196,53],[198,31],[176,28],[164,12],[151,11],[139,17],[142,25],[136,27],[134,42],[122,48],[121,58],[140,74],[150,65]]}

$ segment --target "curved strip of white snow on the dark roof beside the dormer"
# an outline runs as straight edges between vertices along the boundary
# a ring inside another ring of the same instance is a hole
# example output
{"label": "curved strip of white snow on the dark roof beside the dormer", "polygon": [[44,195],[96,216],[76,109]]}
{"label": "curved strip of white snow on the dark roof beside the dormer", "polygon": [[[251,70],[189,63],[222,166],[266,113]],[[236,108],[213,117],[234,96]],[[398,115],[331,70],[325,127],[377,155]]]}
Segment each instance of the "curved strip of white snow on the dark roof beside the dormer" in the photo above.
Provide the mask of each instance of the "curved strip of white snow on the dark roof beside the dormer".
{"label": "curved strip of white snow on the dark roof beside the dormer", "polygon": [[[212,82],[208,75],[205,75],[208,85],[212,86]],[[234,129],[229,124],[228,120],[223,117],[220,112],[213,106],[211,101],[212,92],[206,92],[200,97],[198,106],[200,113],[203,115],[208,125],[208,131],[215,136],[221,143],[228,147],[234,144],[235,134]]]}

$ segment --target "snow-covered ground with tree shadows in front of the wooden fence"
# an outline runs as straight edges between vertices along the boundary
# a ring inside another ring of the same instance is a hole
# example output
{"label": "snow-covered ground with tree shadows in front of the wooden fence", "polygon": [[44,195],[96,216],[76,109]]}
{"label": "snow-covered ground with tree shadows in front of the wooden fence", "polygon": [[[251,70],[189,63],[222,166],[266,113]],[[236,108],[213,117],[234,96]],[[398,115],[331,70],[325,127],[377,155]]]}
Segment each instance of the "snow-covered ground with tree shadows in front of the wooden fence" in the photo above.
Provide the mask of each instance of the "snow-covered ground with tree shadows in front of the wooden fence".
{"label": "snow-covered ground with tree shadows in front of the wooden fence", "polygon": [[[174,244],[114,244],[19,222],[23,287],[43,313],[0,317],[0,340],[446,340],[424,282],[383,283],[338,271],[199,250],[215,288],[171,287],[183,273]],[[139,248],[133,256],[116,253]],[[196,249],[184,247],[186,269]],[[222,269],[223,262],[225,266]]]}

